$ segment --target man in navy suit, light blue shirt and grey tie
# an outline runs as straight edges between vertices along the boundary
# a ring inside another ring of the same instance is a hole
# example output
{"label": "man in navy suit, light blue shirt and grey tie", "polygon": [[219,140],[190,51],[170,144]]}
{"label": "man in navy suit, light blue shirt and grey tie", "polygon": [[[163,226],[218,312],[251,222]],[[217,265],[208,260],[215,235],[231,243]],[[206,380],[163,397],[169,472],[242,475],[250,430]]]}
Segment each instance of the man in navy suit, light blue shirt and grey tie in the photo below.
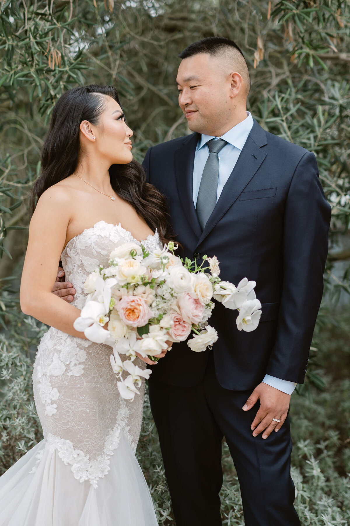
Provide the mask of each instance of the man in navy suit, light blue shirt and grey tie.
{"label": "man in navy suit, light blue shirt and grey tie", "polygon": [[[256,280],[259,327],[237,330],[216,302],[213,349],[186,342],[153,366],[150,398],[176,526],[219,526],[221,441],[238,474],[246,526],[300,525],[290,477],[290,396],[303,383],[323,291],[331,210],[315,156],[247,113],[238,46],[205,38],[180,55],[179,105],[193,134],[147,151],[183,254],[217,256],[224,280]],[[74,294],[58,284],[60,295]],[[70,298],[72,299],[72,298]]]}

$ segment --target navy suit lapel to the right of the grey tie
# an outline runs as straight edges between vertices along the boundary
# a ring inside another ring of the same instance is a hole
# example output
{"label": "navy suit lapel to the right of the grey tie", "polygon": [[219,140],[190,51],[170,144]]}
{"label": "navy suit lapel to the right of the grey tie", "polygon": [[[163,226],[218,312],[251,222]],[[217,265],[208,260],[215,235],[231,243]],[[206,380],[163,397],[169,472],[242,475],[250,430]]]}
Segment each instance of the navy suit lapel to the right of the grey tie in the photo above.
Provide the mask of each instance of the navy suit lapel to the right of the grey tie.
{"label": "navy suit lapel to the right of the grey tie", "polygon": [[198,245],[200,245],[208,234],[210,234],[217,222],[226,214],[228,209],[235,203],[236,199],[246,188],[249,181],[254,177],[267,155],[260,148],[266,144],[266,133],[256,120],[254,120],[254,125],[250,131],[246,144],[243,146],[237,163],[232,170],[227,183],[222,189],[213,213],[209,217],[203,233],[199,238]]}

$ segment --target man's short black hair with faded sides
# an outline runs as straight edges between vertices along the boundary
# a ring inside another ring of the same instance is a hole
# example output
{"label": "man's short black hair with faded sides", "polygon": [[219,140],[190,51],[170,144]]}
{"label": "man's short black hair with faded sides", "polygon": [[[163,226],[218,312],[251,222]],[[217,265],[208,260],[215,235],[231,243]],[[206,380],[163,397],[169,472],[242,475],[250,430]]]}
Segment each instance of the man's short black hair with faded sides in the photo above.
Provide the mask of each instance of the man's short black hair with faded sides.
{"label": "man's short black hair with faded sides", "polygon": [[242,75],[242,78],[245,81],[248,95],[250,89],[249,69],[246,59],[236,42],[230,40],[230,38],[210,36],[190,44],[178,56],[183,59],[192,57],[193,55],[198,55],[199,53],[222,56],[222,59],[227,60],[229,64],[234,60],[235,64],[239,66],[238,72]]}

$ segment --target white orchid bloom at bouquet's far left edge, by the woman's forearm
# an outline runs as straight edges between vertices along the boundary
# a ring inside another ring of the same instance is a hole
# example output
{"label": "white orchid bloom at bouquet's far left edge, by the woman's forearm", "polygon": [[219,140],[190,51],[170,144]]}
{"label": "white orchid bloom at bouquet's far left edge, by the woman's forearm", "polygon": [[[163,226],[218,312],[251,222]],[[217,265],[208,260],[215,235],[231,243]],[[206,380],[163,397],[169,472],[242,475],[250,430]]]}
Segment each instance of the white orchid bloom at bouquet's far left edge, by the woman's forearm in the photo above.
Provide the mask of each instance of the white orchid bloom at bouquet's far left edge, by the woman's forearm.
{"label": "white orchid bloom at bouquet's far left edge, by the woman's forearm", "polygon": [[73,323],[73,327],[83,332],[88,340],[96,343],[105,343],[110,338],[108,330],[103,329],[103,326],[108,322],[109,318],[106,315],[108,310],[105,309],[104,304],[98,301],[87,301],[83,309],[80,311],[80,316]]}

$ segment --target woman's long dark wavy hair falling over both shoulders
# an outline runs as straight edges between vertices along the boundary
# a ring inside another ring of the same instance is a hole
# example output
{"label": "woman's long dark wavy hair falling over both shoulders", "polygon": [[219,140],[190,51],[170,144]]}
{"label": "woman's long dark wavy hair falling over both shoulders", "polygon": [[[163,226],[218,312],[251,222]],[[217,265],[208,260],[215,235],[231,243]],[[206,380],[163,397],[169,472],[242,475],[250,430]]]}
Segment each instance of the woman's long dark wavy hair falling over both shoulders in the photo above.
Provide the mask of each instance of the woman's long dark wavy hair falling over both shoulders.
{"label": "woman's long dark wavy hair falling over both shoulders", "polygon": [[[108,95],[120,105],[114,87],[96,84],[70,89],[58,99],[41,149],[41,174],[31,191],[31,214],[45,190],[76,170],[80,153],[80,123],[88,120],[97,125],[104,109],[103,97],[95,95]],[[124,165],[114,164],[109,169],[109,175],[115,193],[130,203],[153,231],[158,229],[163,242],[171,239],[165,199],[160,191],[146,182],[142,166],[135,160]]]}

